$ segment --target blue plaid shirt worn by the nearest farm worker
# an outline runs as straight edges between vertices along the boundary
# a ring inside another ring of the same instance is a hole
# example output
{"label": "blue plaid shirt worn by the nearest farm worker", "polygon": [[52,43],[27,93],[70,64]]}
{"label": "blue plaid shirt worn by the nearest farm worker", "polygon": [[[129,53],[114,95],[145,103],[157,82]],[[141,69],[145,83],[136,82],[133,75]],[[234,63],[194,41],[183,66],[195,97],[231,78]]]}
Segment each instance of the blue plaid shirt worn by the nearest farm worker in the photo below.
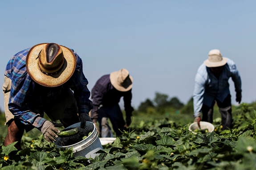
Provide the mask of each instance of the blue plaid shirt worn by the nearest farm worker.
{"label": "blue plaid shirt worn by the nearest farm worker", "polygon": [[7,63],[4,75],[12,80],[8,108],[12,114],[26,126],[26,131],[34,127],[41,128],[46,121],[44,105],[53,103],[61,91],[73,90],[77,101],[78,114],[87,113],[93,108],[89,100],[88,81],[83,74],[82,60],[77,58],[76,70],[72,77],[59,87],[43,87],[35,83],[26,70],[26,56],[30,48],[14,55]]}

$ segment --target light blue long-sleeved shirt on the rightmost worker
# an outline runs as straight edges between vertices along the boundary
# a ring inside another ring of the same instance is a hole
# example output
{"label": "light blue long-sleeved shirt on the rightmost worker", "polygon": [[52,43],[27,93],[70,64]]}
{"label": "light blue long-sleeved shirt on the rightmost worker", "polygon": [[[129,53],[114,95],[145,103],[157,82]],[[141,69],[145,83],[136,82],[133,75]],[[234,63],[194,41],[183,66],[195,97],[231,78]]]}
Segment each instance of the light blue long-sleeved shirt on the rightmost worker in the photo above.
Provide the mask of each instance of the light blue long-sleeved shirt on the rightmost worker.
{"label": "light blue long-sleeved shirt on the rightmost worker", "polygon": [[236,64],[228,59],[223,66],[219,79],[213,75],[209,67],[203,63],[195,75],[195,89],[193,93],[194,117],[200,116],[203,104],[211,107],[212,102],[218,99],[220,102],[230,94],[228,79],[232,78],[236,92],[241,92],[241,78]]}

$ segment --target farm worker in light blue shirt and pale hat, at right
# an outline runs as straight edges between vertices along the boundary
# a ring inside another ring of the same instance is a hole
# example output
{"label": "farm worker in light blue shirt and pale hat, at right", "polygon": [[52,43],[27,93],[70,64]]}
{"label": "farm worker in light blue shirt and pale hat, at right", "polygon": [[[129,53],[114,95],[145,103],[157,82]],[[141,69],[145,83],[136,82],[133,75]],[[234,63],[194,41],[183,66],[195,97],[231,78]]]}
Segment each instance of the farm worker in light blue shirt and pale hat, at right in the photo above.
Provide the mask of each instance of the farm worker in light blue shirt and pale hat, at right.
{"label": "farm worker in light blue shirt and pale hat, at right", "polygon": [[236,90],[236,102],[241,102],[241,79],[236,64],[228,58],[222,57],[219,50],[211,50],[195,75],[195,89],[193,94],[195,121],[212,123],[213,106],[217,103],[221,114],[223,130],[231,128],[232,109],[228,79],[232,78]]}

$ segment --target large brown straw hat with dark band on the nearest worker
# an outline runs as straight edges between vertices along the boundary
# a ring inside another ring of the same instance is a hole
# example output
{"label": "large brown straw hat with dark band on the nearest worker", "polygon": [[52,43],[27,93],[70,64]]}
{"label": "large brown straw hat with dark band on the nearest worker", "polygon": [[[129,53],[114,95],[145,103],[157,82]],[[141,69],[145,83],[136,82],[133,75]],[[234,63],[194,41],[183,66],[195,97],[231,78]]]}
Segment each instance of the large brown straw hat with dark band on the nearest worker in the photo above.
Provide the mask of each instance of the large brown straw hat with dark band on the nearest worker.
{"label": "large brown straw hat with dark band on the nearest worker", "polygon": [[28,75],[45,87],[57,87],[67,82],[76,68],[72,50],[57,43],[33,46],[26,59]]}

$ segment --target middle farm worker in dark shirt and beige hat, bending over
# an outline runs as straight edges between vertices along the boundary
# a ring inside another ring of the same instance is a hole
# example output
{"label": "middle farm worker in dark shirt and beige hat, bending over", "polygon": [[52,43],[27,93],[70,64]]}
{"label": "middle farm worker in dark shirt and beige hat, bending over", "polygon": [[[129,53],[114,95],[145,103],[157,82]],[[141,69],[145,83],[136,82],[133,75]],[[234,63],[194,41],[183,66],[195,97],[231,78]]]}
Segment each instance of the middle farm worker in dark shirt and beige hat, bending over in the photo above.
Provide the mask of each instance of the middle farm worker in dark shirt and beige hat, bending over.
{"label": "middle farm worker in dark shirt and beige hat, bending over", "polygon": [[[108,118],[117,135],[122,134],[121,131],[126,130],[130,125],[132,111],[134,110],[131,107],[132,83],[133,78],[129,75],[129,71],[122,68],[119,71],[103,75],[94,85],[92,89],[93,109],[91,110],[91,118],[95,124],[98,120],[101,137],[113,137]],[[118,105],[121,97],[124,101],[126,122]]]}

